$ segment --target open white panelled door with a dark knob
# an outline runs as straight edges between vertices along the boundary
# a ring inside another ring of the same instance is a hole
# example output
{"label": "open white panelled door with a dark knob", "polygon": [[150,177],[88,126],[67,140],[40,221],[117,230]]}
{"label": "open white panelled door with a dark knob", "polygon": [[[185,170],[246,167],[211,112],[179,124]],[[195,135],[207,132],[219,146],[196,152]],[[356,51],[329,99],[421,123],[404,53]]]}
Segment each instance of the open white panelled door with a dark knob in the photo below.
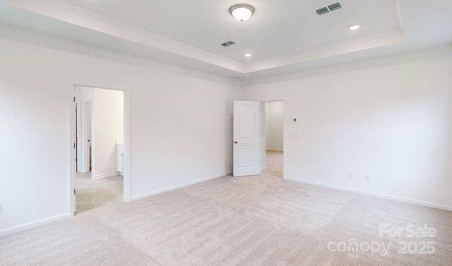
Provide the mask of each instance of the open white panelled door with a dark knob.
{"label": "open white panelled door with a dark knob", "polygon": [[234,101],[234,176],[261,174],[261,103]]}

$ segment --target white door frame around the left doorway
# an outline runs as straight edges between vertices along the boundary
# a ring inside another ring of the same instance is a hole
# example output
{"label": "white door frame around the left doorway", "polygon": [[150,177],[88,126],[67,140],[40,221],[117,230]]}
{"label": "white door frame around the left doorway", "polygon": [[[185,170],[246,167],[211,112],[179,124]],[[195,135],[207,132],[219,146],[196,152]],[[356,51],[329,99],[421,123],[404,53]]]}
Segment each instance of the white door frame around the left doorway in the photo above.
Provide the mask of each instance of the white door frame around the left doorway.
{"label": "white door frame around the left doorway", "polygon": [[69,82],[69,214],[74,215],[75,197],[74,189],[76,187],[76,149],[73,145],[76,139],[75,133],[75,111],[76,104],[74,103],[75,89],[77,86],[81,87],[95,87],[106,90],[121,90],[124,92],[124,201],[130,201],[130,90],[129,87],[117,87],[116,85],[98,85],[89,82]]}

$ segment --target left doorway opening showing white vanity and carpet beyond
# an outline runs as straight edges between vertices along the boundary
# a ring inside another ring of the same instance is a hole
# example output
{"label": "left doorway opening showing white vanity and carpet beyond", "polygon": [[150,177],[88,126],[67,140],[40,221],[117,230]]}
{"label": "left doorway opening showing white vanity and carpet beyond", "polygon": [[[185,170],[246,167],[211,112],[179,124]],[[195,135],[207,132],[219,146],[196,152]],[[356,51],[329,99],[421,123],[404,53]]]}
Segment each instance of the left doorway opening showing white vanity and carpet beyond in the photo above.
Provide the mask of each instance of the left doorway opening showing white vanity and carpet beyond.
{"label": "left doorway opening showing white vanity and carpet beyond", "polygon": [[124,91],[76,85],[73,213],[124,200]]}

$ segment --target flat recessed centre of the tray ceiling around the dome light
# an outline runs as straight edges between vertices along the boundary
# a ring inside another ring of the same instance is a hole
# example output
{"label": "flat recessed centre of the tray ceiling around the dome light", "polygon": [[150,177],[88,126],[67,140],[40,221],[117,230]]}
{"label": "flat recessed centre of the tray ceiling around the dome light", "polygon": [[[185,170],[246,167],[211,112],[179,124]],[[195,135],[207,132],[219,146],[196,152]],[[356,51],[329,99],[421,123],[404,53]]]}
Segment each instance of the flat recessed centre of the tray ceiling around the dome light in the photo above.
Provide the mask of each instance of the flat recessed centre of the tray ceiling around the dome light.
{"label": "flat recessed centre of the tray ceiling around the dome light", "polygon": [[[394,0],[345,0],[324,16],[314,11],[337,0],[246,0],[256,12],[244,23],[228,13],[237,0],[62,1],[242,63],[400,28]],[[362,28],[350,31],[356,23]],[[237,44],[220,46],[229,40]]]}

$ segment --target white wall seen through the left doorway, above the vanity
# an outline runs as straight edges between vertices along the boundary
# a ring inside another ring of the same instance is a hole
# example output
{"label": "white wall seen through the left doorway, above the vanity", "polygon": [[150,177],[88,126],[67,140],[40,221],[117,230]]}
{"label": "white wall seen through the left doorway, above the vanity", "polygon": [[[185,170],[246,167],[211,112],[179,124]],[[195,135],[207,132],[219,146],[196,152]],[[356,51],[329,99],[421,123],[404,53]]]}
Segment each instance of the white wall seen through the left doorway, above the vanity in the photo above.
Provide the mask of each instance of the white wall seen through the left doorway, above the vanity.
{"label": "white wall seen through the left doorway, above the vanity", "polygon": [[81,109],[83,102],[92,102],[93,178],[116,175],[116,142],[124,140],[124,92],[76,86],[76,96]]}

